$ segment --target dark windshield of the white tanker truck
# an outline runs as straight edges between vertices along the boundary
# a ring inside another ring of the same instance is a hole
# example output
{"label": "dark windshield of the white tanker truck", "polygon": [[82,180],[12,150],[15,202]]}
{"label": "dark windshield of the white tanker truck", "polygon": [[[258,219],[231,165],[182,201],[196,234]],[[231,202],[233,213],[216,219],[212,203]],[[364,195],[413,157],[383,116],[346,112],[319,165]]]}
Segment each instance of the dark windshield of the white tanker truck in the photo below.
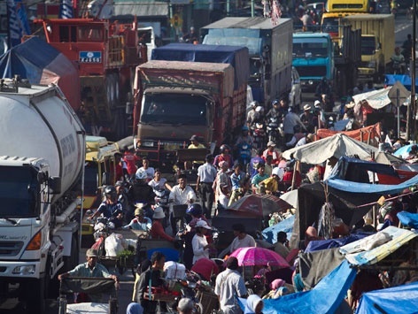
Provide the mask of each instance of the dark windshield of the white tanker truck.
{"label": "dark windshield of the white tanker truck", "polygon": [[33,168],[0,166],[0,218],[37,216],[39,193],[37,172]]}

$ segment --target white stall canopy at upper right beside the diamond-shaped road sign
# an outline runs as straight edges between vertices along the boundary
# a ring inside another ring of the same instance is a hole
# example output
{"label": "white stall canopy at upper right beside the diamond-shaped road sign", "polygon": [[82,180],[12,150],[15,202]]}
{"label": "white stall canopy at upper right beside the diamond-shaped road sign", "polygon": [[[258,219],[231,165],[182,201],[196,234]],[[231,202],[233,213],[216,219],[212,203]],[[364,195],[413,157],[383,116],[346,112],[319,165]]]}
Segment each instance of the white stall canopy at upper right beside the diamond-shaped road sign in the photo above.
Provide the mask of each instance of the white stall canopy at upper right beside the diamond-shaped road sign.
{"label": "white stall canopy at upper right beside the diamond-shaped road sign", "polygon": [[368,101],[370,107],[375,110],[382,109],[389,103],[395,103],[397,100],[397,89],[399,89],[399,103],[404,103],[406,98],[411,94],[405,86],[396,81],[391,87],[372,90],[367,93],[361,93],[352,96],[354,103],[359,103],[363,99]]}

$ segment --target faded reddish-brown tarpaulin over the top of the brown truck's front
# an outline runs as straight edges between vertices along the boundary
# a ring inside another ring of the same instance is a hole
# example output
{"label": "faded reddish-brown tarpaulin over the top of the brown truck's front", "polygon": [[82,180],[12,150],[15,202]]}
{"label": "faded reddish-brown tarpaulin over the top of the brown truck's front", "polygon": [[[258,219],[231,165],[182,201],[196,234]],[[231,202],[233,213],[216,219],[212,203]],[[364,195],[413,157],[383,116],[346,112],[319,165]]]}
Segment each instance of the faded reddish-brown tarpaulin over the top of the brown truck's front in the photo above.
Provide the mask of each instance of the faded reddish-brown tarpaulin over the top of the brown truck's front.
{"label": "faded reddish-brown tarpaulin over the top of the brown truck's front", "polygon": [[[151,60],[137,66],[136,72],[141,74],[141,80],[148,87],[196,88],[199,86],[216,95],[222,92],[224,97],[232,96],[234,92],[234,69],[227,64]],[[223,80],[219,80],[217,75],[224,76]],[[137,77],[138,75],[135,76]],[[224,86],[219,86],[220,81],[224,82]],[[137,84],[138,82],[135,81],[135,86],[139,86]]]}

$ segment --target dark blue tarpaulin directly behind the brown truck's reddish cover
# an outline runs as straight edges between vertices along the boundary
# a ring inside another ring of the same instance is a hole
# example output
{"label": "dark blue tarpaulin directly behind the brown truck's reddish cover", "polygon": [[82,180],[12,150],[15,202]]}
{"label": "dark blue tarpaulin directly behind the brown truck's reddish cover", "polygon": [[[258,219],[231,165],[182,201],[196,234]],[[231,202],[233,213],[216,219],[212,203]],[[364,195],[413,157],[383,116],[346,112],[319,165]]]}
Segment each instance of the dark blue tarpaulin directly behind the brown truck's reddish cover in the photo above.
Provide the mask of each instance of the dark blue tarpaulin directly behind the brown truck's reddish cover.
{"label": "dark blue tarpaulin directly behind the brown truck's reddish cover", "polygon": [[246,47],[170,43],[152,50],[151,59],[232,65],[235,69],[235,89],[241,87],[250,76]]}

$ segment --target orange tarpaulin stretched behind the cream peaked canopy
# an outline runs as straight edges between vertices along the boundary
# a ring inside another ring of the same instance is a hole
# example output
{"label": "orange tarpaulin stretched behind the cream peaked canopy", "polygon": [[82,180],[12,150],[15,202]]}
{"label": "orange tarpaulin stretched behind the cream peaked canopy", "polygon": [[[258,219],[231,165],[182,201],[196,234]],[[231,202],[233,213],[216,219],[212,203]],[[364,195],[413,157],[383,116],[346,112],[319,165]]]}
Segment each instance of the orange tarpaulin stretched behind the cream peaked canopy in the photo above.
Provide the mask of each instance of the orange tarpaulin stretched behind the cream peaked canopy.
{"label": "orange tarpaulin stretched behind the cream peaked canopy", "polygon": [[381,142],[380,131],[380,123],[376,123],[373,126],[361,127],[352,131],[332,131],[327,128],[320,128],[316,132],[316,140],[321,140],[334,134],[342,133],[357,141],[366,142],[369,145],[377,147],[379,142]]}

